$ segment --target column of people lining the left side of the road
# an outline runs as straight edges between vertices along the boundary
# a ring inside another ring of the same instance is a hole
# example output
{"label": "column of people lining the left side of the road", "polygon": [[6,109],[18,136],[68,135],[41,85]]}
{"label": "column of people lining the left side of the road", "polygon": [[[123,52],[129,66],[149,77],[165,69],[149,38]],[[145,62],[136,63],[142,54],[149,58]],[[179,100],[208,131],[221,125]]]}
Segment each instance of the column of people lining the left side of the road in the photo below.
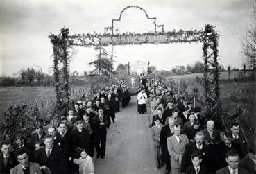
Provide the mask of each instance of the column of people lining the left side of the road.
{"label": "column of people lining the left side of the road", "polygon": [[120,80],[76,101],[58,126],[38,123],[29,139],[18,134],[14,140],[3,140],[0,173],[94,173],[93,159],[105,159],[107,132],[115,123],[115,113],[129,101],[127,80]]}

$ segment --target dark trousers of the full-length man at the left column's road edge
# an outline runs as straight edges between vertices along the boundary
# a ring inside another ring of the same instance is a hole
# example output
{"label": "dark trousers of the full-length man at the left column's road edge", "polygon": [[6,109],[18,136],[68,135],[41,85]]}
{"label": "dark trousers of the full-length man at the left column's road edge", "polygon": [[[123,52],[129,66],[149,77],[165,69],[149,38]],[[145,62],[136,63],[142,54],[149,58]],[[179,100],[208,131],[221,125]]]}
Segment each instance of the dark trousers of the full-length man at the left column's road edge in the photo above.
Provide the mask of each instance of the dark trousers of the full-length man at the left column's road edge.
{"label": "dark trousers of the full-length man at the left column's road edge", "polygon": [[[101,157],[105,156],[105,142],[107,140],[107,133],[100,133],[95,136],[95,148],[97,151],[97,155],[101,155]],[[100,146],[101,144],[101,146]]]}

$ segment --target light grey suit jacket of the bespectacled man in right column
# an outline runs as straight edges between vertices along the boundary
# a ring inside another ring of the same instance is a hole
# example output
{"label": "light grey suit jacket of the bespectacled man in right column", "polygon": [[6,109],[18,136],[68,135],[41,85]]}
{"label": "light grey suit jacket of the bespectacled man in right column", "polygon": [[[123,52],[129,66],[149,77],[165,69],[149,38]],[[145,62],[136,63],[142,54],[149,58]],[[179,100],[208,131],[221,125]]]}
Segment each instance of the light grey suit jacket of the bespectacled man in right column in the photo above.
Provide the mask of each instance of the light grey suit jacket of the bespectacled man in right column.
{"label": "light grey suit jacket of the bespectacled man in right column", "polygon": [[189,143],[187,135],[180,134],[181,143],[178,143],[175,134],[167,138],[167,148],[169,155],[171,156],[171,166],[175,168],[180,168],[181,165],[178,162],[180,155],[185,151],[185,146]]}

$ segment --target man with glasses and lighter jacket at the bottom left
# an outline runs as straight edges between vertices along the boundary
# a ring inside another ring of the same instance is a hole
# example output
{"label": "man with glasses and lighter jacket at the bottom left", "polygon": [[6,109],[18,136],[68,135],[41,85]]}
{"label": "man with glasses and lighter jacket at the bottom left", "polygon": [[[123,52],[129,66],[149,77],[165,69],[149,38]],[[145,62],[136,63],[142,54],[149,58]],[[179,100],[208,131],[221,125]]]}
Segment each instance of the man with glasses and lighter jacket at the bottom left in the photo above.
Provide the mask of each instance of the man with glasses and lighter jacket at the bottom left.
{"label": "man with glasses and lighter jacket at the bottom left", "polygon": [[38,163],[28,161],[28,153],[24,148],[19,149],[16,155],[19,164],[14,168],[10,169],[10,174],[42,174],[42,171],[40,170],[40,166]]}

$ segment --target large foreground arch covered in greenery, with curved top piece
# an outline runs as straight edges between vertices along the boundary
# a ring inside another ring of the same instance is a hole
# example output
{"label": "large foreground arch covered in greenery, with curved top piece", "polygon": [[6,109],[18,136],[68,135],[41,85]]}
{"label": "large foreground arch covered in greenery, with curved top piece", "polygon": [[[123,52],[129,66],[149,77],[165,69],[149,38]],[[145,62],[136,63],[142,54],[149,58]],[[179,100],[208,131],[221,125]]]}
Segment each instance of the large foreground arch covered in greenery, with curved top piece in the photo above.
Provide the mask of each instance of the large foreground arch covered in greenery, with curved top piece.
{"label": "large foreground arch covered in greenery, with curved top piece", "polygon": [[[122,19],[126,10],[137,9],[144,12],[146,19],[152,21],[153,31],[146,33],[116,33],[115,24]],[[146,10],[139,6],[128,6],[121,10],[118,19],[112,19],[111,26],[104,28],[103,34],[69,34],[69,28],[62,28],[60,33],[49,35],[53,44],[53,72],[56,88],[57,107],[69,103],[69,49],[75,46],[115,46],[128,44],[173,44],[198,43],[203,44],[203,60],[205,64],[204,89],[207,112],[219,115],[219,34],[214,26],[207,24],[204,29],[184,31],[165,31],[164,25],[157,24],[156,17],[148,17]]]}

